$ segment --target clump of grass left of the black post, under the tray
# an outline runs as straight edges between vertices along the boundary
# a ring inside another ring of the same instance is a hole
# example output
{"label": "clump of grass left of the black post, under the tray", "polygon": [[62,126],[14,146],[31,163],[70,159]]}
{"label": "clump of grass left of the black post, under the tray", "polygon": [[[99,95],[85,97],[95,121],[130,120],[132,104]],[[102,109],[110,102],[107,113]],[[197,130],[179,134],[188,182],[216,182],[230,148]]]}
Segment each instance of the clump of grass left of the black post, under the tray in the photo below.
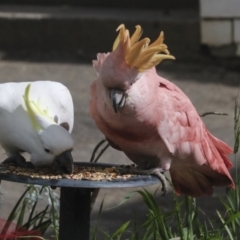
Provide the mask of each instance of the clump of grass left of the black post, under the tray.
{"label": "clump of grass left of the black post, under the tray", "polygon": [[[40,212],[37,212],[38,201],[44,197],[47,199],[48,205]],[[14,239],[43,239],[39,236],[43,236],[48,228],[52,228],[55,231],[55,239],[57,240],[58,206],[59,197],[50,187],[27,185],[25,192],[18,199],[8,219],[6,219],[6,223],[0,231],[0,236],[2,238],[4,236],[6,239],[10,239],[7,238],[9,235],[16,236]],[[14,230],[12,230],[12,226],[15,226]],[[10,227],[11,231],[9,230]],[[37,235],[34,235],[36,233]],[[27,236],[23,236],[23,234]],[[33,235],[34,238],[32,238]]]}

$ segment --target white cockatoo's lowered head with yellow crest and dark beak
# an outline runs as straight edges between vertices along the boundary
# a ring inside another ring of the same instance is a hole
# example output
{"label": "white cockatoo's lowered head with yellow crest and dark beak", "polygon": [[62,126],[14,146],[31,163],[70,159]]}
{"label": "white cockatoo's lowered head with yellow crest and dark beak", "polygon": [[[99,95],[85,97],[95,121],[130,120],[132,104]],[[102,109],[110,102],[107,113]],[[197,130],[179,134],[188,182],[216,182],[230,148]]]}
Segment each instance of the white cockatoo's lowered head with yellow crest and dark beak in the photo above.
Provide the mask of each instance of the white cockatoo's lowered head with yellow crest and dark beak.
{"label": "white cockatoo's lowered head with yellow crest and dark beak", "polygon": [[37,132],[38,139],[35,150],[31,154],[31,162],[35,166],[47,166],[57,161],[67,173],[73,172],[73,139],[64,126],[58,125],[38,103],[30,100],[30,84],[26,87],[24,102],[26,111]]}

